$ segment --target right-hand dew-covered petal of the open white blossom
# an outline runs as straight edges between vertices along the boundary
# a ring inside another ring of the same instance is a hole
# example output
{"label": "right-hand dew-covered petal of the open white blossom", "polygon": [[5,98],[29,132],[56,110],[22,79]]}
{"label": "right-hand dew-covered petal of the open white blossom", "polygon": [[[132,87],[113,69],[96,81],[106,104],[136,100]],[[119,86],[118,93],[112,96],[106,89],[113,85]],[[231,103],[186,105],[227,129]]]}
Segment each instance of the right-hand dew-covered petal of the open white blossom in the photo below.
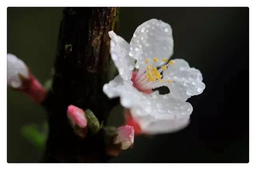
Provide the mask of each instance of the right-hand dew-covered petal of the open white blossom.
{"label": "right-hand dew-covered petal of the open white blossom", "polygon": [[183,59],[175,59],[174,64],[164,70],[163,77],[164,81],[172,80],[166,84],[170,89],[168,95],[177,100],[186,101],[191,96],[201,94],[205,88],[201,72],[196,68],[190,68],[188,62]]}

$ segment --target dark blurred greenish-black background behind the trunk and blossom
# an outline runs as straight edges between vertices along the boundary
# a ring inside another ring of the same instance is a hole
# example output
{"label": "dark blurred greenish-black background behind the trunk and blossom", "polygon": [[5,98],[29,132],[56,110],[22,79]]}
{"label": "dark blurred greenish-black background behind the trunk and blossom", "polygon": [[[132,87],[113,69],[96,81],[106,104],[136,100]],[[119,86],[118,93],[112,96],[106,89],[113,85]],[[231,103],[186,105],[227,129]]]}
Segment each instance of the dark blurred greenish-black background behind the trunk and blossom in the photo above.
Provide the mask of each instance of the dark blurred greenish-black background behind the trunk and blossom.
{"label": "dark blurred greenish-black background behind the trunk and blossom", "polygon": [[[7,52],[24,60],[42,84],[52,74],[63,9],[7,9]],[[122,7],[118,35],[129,42],[137,26],[151,18],[172,26],[172,58],[199,69],[206,89],[188,99],[194,110],[187,128],[138,136],[133,149],[110,162],[248,162],[249,8]],[[109,124],[121,121],[121,109],[114,108]],[[40,160],[45,123],[43,108],[7,89],[8,162]]]}

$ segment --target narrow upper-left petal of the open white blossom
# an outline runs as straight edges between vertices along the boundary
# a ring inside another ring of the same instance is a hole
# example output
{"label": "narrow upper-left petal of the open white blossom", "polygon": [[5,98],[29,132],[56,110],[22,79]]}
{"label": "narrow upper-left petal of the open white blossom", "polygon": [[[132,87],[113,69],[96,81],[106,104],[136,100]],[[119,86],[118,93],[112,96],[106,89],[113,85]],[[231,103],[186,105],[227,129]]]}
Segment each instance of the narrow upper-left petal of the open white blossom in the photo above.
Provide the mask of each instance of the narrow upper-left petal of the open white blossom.
{"label": "narrow upper-left petal of the open white blossom", "polygon": [[129,44],[122,37],[116,35],[114,31],[108,32],[110,41],[110,54],[120,76],[124,80],[131,79],[134,69],[134,59],[128,56]]}

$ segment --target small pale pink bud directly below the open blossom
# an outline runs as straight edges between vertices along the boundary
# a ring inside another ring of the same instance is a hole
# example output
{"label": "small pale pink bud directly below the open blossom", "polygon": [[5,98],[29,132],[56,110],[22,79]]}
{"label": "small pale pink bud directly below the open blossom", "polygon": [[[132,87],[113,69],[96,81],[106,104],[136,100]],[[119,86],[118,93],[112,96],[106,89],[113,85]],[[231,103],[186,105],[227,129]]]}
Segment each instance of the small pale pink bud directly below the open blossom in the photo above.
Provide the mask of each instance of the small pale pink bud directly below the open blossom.
{"label": "small pale pink bud directly below the open blossom", "polygon": [[132,126],[121,126],[116,130],[114,144],[120,144],[120,149],[132,148],[134,142],[134,128]]}

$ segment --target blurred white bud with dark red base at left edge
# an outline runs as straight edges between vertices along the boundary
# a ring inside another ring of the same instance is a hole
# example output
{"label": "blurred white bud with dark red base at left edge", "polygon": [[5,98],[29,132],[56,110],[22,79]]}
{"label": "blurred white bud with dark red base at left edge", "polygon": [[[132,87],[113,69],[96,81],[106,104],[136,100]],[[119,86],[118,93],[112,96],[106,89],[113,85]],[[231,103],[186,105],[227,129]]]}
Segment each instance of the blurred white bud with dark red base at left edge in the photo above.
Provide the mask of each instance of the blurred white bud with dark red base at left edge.
{"label": "blurred white bud with dark red base at left edge", "polygon": [[13,54],[7,54],[7,85],[24,92],[36,103],[42,102],[46,96],[45,89],[26,64]]}

